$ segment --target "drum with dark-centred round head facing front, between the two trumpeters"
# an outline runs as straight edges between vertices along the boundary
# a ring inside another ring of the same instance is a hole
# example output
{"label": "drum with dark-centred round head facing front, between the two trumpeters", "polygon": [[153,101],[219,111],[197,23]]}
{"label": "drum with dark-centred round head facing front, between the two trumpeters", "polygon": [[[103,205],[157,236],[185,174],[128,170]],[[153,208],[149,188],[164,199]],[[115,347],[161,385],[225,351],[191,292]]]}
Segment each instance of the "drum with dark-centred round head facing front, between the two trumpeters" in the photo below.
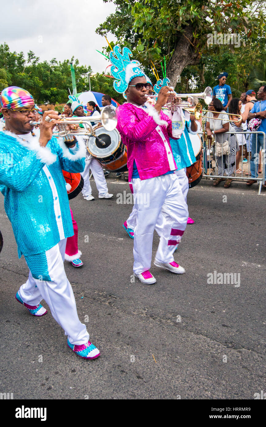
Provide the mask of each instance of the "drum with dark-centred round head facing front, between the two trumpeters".
{"label": "drum with dark-centred round head facing front, between the two trumpeters", "polygon": [[94,127],[95,134],[105,142],[101,145],[94,136],[88,137],[87,150],[100,164],[110,172],[124,172],[127,170],[126,146],[121,143],[117,129],[106,130],[103,126]]}

